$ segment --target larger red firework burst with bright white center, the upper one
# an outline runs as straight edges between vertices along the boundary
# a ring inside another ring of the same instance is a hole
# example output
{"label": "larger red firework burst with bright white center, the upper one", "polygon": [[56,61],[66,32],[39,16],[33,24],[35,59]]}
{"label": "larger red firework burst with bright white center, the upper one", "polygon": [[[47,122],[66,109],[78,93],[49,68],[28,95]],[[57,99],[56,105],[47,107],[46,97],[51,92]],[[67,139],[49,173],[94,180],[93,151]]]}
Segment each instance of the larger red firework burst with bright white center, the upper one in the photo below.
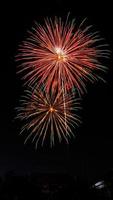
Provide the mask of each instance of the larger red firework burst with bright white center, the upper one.
{"label": "larger red firework burst with bright white center, the upper one", "polygon": [[25,83],[43,84],[47,92],[64,88],[67,93],[76,88],[82,94],[86,81],[98,80],[96,72],[106,70],[100,58],[108,56],[98,32],[90,33],[90,28],[84,28],[83,22],[77,28],[68,17],[65,23],[61,18],[46,19],[44,25],[35,23],[16,58]]}

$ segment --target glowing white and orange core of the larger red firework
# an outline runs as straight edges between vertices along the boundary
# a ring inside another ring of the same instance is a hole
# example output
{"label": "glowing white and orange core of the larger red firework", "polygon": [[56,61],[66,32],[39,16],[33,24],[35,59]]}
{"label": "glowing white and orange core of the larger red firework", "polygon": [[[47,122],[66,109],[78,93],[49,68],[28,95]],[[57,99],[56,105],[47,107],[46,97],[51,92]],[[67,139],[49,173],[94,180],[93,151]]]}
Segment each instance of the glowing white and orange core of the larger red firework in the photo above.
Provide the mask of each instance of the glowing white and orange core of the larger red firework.
{"label": "glowing white and orange core of the larger red firework", "polygon": [[58,61],[65,61],[66,60],[65,52],[60,47],[55,48],[55,53],[57,54],[57,60]]}

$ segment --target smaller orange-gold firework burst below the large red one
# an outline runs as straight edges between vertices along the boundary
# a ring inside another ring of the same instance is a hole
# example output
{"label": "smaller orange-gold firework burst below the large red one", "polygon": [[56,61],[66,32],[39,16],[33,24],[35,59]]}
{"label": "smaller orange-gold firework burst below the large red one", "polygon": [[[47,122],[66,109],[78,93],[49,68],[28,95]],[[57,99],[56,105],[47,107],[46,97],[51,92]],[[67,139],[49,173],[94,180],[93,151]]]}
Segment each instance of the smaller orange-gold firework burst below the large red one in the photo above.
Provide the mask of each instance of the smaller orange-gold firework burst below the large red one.
{"label": "smaller orange-gold firework burst below the large red one", "polygon": [[77,110],[80,108],[79,100],[74,96],[65,95],[65,112],[62,91],[54,95],[41,92],[38,88],[33,92],[27,90],[17,108],[17,118],[23,122],[20,133],[27,131],[27,138],[35,142],[36,148],[39,141],[43,145],[45,138],[50,137],[51,146],[55,137],[59,142],[62,139],[68,143],[74,136],[72,129],[79,125],[80,119]]}

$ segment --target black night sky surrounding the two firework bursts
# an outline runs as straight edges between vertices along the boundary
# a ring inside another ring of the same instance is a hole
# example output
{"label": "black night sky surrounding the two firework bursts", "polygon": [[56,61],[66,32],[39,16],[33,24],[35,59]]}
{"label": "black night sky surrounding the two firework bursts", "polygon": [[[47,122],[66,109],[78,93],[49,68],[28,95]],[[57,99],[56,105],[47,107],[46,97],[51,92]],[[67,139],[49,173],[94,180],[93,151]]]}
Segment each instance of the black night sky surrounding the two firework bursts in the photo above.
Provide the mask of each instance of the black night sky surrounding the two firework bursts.
{"label": "black night sky surrounding the two firework bursts", "polygon": [[[37,3],[36,3],[37,2]],[[113,167],[113,68],[112,53],[107,61],[109,68],[104,76],[106,84],[88,84],[88,93],[82,101],[82,125],[77,138],[70,145],[57,144],[53,149],[44,147],[35,151],[24,137],[19,136],[18,124],[13,120],[14,108],[23,90],[16,75],[15,55],[18,44],[24,39],[26,30],[34,20],[46,16],[65,17],[70,11],[78,23],[87,17],[113,49],[112,6],[106,3],[77,1],[31,1],[31,3],[10,3],[2,9],[1,30],[3,37],[3,61],[1,62],[1,126],[0,126],[0,173],[15,170],[25,172],[67,171],[87,180],[95,179]]]}

